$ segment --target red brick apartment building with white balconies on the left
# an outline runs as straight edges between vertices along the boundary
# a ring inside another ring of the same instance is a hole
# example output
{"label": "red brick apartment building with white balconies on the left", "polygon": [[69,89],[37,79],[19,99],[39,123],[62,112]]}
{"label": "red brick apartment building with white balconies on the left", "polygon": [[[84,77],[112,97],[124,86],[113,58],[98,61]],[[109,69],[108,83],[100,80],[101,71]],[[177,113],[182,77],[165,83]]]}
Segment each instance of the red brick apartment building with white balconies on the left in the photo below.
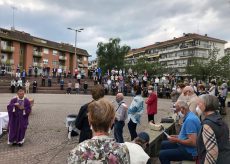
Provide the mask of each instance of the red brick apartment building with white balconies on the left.
{"label": "red brick apartment building with white balconies on the left", "polygon": [[63,71],[74,72],[78,67],[88,73],[88,57],[86,50],[66,43],[57,43],[32,36],[23,31],[0,28],[0,63],[6,65],[8,72],[15,72],[16,67],[28,71],[30,66],[41,70],[46,67],[62,68]]}

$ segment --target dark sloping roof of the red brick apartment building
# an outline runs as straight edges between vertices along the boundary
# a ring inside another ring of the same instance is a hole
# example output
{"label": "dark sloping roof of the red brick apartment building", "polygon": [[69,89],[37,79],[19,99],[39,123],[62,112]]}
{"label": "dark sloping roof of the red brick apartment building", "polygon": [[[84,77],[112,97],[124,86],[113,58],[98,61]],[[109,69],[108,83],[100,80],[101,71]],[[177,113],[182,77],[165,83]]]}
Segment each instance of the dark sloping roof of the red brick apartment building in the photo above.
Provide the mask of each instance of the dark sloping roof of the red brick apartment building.
{"label": "dark sloping roof of the red brick apartment building", "polygon": [[[7,29],[0,28],[0,38],[14,40],[14,41],[32,44],[36,46],[42,46],[46,48],[52,48],[59,51],[67,51],[70,53],[75,52],[75,47],[70,44],[57,43],[46,39],[38,38],[24,31],[7,30]],[[84,49],[77,48],[76,50],[78,55],[88,56],[88,57],[90,56],[88,52]]]}

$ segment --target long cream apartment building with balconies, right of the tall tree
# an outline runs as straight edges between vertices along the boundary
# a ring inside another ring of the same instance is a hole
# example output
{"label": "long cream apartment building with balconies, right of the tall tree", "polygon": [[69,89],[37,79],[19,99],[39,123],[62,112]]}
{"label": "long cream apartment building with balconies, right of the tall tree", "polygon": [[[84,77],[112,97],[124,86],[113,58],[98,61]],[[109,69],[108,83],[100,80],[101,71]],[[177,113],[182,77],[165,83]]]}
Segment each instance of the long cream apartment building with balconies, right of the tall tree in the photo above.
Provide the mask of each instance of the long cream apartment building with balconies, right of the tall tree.
{"label": "long cream apartment building with balconies, right of the tall tree", "polygon": [[183,75],[187,65],[192,64],[189,59],[206,60],[211,52],[220,58],[224,56],[226,43],[224,40],[209,37],[207,34],[184,33],[179,38],[132,49],[125,56],[125,60],[129,64],[134,64],[138,58],[144,57],[147,62],[158,61],[168,70]]}

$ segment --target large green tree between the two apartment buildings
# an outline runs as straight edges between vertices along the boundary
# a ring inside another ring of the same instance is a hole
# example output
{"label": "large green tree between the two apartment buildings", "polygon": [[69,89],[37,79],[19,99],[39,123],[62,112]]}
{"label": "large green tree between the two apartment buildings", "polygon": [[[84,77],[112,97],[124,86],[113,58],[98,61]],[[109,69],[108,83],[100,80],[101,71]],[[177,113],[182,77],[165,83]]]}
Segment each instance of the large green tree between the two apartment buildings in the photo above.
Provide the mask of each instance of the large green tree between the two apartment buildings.
{"label": "large green tree between the two apartment buildings", "polygon": [[110,38],[108,43],[99,42],[97,48],[98,66],[102,69],[102,73],[114,67],[124,68],[124,57],[130,47],[120,46],[119,38]]}

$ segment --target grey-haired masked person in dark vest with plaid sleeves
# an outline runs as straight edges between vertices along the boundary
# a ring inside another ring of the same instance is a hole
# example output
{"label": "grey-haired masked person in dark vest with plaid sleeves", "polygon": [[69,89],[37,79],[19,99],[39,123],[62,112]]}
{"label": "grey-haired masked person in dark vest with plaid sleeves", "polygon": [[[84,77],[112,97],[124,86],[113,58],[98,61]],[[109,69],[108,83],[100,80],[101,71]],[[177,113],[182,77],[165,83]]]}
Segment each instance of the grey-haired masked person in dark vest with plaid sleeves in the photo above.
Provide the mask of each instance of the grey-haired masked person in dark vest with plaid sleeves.
{"label": "grey-haired masked person in dark vest with plaid sleeves", "polygon": [[197,138],[199,163],[230,163],[229,128],[220,114],[218,98],[201,95],[197,111],[203,113],[202,128]]}

